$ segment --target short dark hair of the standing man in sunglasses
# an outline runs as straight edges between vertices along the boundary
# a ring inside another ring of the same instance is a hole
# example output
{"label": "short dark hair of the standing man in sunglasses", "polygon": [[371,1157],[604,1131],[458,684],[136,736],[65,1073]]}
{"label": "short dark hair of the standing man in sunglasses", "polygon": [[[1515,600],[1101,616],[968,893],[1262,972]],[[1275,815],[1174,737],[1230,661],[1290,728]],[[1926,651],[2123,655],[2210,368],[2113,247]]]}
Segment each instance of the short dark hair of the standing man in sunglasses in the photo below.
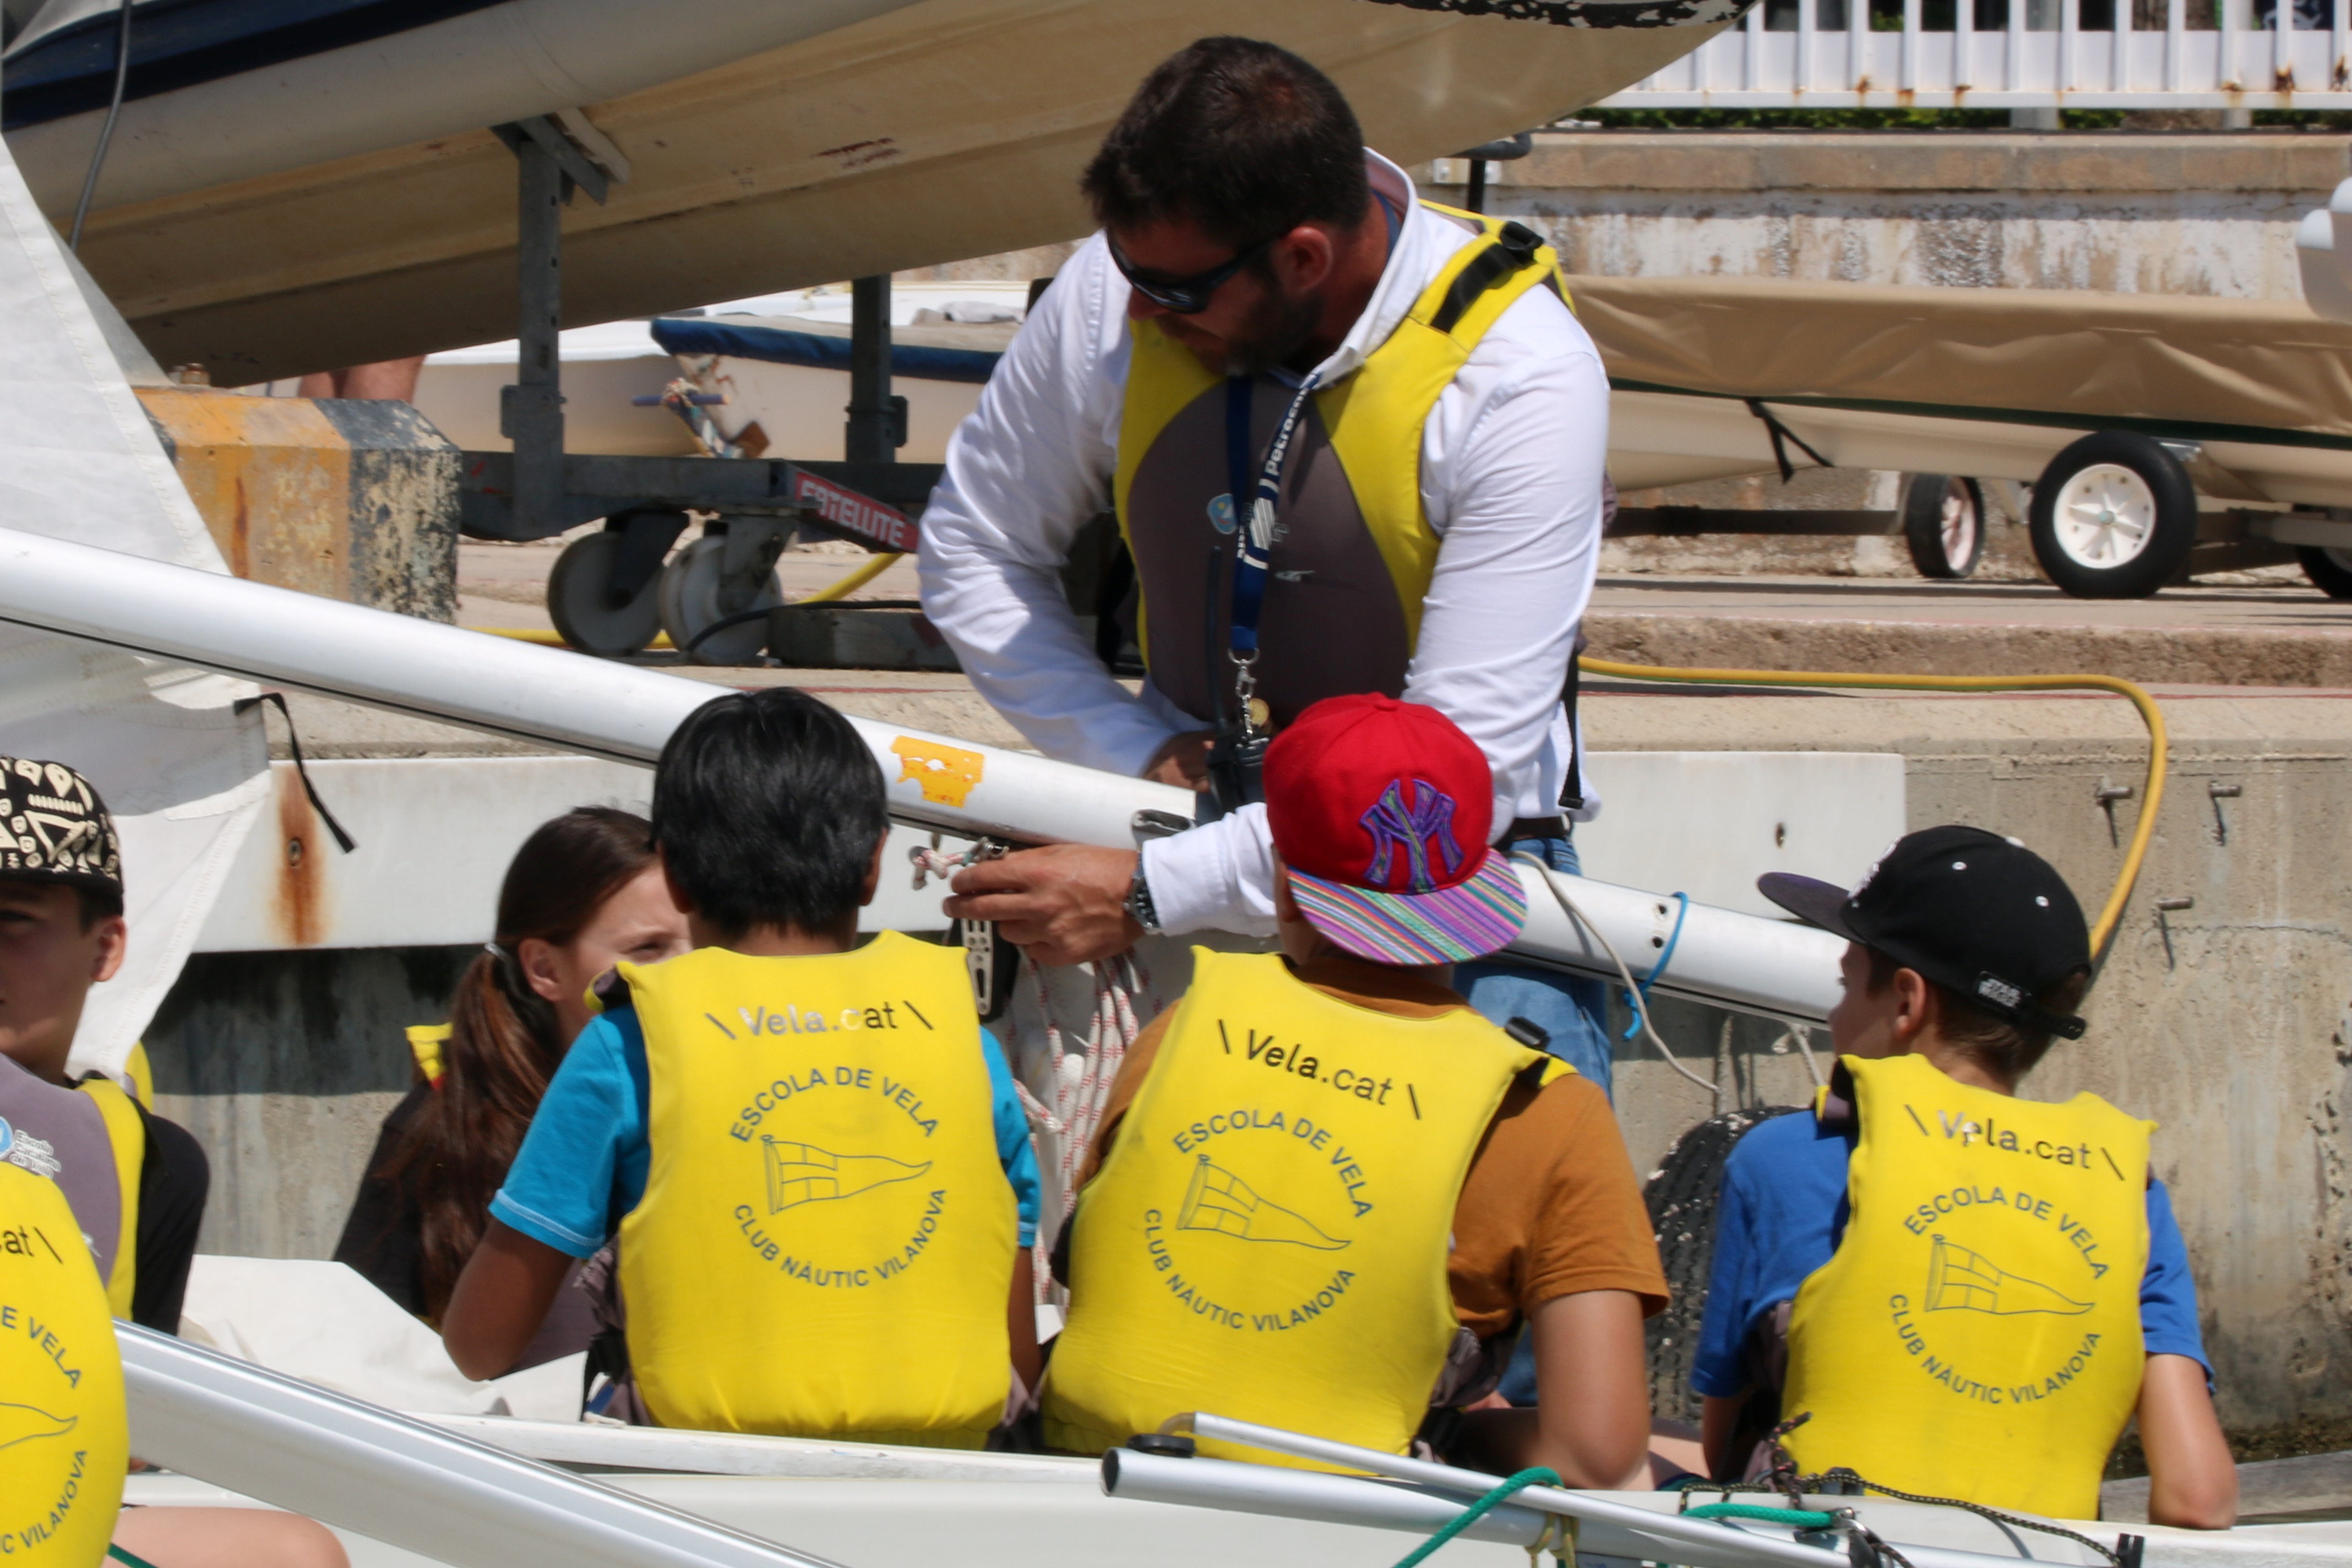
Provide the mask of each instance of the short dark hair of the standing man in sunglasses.
{"label": "short dark hair of the standing man in sunglasses", "polygon": [[1202,38],[1160,61],[1082,181],[1105,228],[1188,219],[1232,247],[1364,216],[1364,132],[1338,87],[1289,49]]}

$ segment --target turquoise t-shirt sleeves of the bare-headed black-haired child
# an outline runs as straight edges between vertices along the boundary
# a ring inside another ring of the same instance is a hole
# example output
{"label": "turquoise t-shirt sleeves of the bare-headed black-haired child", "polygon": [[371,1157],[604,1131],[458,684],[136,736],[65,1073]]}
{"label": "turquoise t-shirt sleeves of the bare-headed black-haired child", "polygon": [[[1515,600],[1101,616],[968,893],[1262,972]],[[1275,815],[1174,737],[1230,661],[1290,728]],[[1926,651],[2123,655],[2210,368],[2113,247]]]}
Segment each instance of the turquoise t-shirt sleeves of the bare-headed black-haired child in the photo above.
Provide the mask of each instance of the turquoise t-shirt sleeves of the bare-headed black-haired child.
{"label": "turquoise t-shirt sleeves of the bare-headed black-haired child", "polygon": [[[1004,1051],[988,1030],[981,1030],[981,1056],[995,1103],[997,1159],[1021,1211],[1021,1246],[1030,1246],[1037,1241],[1037,1152]],[[564,1053],[506,1185],[489,1199],[492,1218],[557,1253],[593,1258],[644,1197],[654,1159],[647,1100],[644,1030],[635,1009],[614,1009],[581,1030]]]}

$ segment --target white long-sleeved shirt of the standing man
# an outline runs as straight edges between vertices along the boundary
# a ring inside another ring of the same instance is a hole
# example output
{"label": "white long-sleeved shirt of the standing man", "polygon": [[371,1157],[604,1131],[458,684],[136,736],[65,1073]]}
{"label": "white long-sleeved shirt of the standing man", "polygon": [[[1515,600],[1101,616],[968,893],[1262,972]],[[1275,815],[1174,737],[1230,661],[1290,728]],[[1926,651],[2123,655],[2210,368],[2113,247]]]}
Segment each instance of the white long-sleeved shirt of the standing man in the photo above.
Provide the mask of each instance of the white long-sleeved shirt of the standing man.
{"label": "white long-sleeved shirt of the standing man", "polygon": [[[1402,169],[1367,160],[1404,221],[1371,303],[1322,364],[1324,383],[1352,374],[1446,259],[1477,242],[1421,209]],[[948,442],[920,567],[931,625],[1030,745],[1141,773],[1171,736],[1202,724],[1150,682],[1131,693],[1103,670],[1058,576],[1070,541],[1110,505],[1127,357],[1127,282],[1096,235]],[[1423,428],[1421,503],[1439,548],[1404,698],[1437,708],[1486,752],[1496,832],[1559,811],[1573,745],[1559,691],[1599,562],[1606,449],[1609,378],[1550,289],[1529,289],[1496,320]],[[1272,931],[1263,806],[1148,844],[1143,867],[1169,933]]]}

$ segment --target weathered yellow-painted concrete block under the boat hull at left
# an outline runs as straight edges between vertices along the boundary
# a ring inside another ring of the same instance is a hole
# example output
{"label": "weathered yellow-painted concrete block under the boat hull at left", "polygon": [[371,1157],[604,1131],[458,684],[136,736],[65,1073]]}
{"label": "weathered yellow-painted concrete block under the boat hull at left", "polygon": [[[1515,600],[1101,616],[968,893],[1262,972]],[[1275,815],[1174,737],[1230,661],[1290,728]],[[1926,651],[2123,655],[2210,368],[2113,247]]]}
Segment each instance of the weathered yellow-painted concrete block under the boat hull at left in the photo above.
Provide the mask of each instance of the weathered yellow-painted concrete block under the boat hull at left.
{"label": "weathered yellow-painted concrete block under the boat hull at left", "polygon": [[459,451],[412,404],[136,390],[230,571],[456,621]]}

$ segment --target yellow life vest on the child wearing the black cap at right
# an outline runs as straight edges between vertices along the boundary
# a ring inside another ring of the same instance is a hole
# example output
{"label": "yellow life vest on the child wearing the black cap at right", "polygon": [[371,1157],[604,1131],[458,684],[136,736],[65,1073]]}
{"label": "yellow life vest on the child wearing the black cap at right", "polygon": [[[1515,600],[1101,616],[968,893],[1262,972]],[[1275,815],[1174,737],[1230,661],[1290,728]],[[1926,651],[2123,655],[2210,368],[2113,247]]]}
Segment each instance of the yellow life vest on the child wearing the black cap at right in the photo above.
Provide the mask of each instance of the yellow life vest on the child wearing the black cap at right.
{"label": "yellow life vest on the child wearing the black cap at right", "polygon": [[2152,1121],[1844,1058],[1860,1143],[1837,1255],[1797,1291],[1783,1415],[1806,1472],[2098,1516],[2140,1394]]}

